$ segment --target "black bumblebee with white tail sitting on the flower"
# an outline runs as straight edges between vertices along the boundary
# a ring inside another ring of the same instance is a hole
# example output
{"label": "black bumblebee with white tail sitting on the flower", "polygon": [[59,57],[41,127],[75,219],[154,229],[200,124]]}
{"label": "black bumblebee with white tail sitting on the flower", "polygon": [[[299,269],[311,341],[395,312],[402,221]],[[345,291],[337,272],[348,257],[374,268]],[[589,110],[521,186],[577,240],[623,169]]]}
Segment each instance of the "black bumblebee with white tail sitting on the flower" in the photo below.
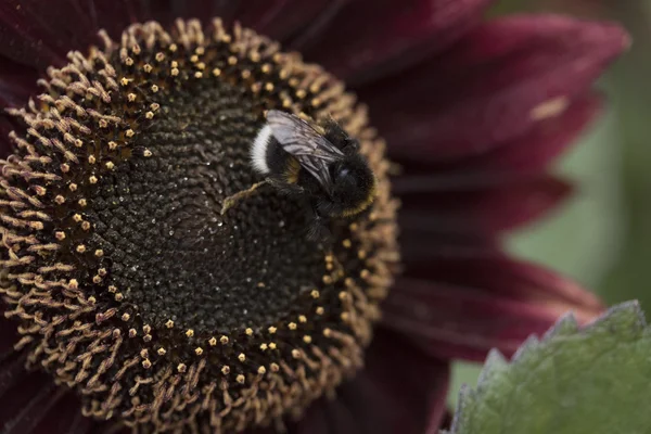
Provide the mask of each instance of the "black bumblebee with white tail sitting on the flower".
{"label": "black bumblebee with white tail sitting on the flower", "polygon": [[359,153],[359,142],[333,119],[321,126],[270,110],[251,148],[251,161],[280,191],[308,201],[315,237],[331,219],[354,217],[373,203],[373,171]]}

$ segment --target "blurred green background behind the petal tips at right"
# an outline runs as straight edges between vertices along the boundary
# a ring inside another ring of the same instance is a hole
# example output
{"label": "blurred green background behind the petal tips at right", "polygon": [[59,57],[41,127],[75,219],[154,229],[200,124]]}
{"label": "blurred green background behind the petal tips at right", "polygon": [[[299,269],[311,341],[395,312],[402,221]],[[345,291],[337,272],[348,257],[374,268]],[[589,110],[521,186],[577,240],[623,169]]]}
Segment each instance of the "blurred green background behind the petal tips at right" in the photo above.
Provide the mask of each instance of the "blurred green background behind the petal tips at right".
{"label": "blurred green background behind the petal tips at right", "polygon": [[[515,233],[509,248],[593,289],[609,304],[637,298],[651,311],[651,0],[502,0],[492,16],[561,12],[622,23],[633,47],[599,82],[604,116],[559,162],[577,193],[547,220]],[[480,367],[456,363],[449,401]]]}

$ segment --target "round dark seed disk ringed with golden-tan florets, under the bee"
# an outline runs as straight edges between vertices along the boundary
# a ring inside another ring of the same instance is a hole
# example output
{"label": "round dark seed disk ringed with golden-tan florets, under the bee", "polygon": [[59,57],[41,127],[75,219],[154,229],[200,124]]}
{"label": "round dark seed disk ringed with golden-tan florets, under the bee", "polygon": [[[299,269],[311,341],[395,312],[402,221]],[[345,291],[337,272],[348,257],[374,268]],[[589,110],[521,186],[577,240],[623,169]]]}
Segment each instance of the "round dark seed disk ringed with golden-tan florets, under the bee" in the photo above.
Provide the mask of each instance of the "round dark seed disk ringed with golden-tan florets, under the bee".
{"label": "round dark seed disk ringed with golden-tan florets, under the bee", "polygon": [[[29,365],[86,414],[231,432],[299,413],[353,374],[397,260],[381,139],[319,67],[219,21],[149,23],[49,72],[11,111],[0,162],[1,291]],[[378,178],[369,213],[306,238],[308,213],[263,179],[265,111],[332,115]]]}

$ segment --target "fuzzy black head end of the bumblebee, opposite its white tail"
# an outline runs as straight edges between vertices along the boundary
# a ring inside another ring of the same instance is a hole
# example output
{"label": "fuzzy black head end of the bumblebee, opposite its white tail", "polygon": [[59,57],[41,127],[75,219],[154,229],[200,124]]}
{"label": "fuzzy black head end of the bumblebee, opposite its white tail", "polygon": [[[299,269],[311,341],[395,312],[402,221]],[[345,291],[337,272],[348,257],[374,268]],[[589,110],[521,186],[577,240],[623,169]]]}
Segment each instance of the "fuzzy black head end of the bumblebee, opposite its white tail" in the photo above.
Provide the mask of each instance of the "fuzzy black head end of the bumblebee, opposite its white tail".
{"label": "fuzzy black head end of the bumblebee, opposite its white tail", "polygon": [[373,201],[375,177],[366,159],[348,155],[330,167],[332,194],[330,215],[354,216],[366,209]]}

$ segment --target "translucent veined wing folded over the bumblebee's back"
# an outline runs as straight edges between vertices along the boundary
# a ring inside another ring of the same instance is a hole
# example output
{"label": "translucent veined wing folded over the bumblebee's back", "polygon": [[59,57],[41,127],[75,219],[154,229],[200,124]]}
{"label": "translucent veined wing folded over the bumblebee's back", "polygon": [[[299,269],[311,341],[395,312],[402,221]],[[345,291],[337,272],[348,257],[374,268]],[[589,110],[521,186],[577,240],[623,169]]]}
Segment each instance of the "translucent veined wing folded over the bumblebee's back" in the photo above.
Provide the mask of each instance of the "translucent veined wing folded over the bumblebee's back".
{"label": "translucent veined wing folded over the bumblebee's back", "polygon": [[267,123],[282,149],[298,159],[301,166],[330,192],[332,179],[328,166],[342,159],[343,152],[297,116],[270,110],[267,113]]}

